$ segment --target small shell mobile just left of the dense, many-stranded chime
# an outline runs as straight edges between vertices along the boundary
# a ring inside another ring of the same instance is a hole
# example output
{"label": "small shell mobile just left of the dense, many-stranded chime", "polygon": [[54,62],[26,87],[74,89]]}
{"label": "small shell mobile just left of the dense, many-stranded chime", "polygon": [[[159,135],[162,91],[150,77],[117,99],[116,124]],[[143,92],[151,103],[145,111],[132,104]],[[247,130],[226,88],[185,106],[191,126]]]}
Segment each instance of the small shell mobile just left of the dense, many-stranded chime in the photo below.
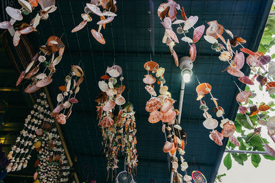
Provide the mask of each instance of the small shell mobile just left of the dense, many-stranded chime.
{"label": "small shell mobile just left of the dense, many-stranded chime", "polygon": [[[65,77],[65,85],[59,86],[61,93],[56,97],[57,106],[51,112],[51,117],[55,117],[58,123],[64,125],[66,120],[72,114],[74,103],[78,103],[76,94],[80,90],[80,84],[84,80],[84,72],[80,66],[72,65],[71,72]],[[65,115],[66,110],[67,114]]]}

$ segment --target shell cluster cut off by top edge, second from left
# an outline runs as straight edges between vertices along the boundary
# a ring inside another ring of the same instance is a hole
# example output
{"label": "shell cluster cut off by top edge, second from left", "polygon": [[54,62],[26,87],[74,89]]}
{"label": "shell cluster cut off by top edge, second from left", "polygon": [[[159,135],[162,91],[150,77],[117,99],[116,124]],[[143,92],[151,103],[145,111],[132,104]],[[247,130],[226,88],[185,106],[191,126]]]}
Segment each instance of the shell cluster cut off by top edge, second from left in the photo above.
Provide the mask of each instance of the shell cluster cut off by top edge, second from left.
{"label": "shell cluster cut off by top edge, second from left", "polygon": [[[100,30],[102,27],[103,29],[105,29],[106,24],[111,23],[114,17],[117,16],[115,14],[115,12],[117,11],[115,3],[115,0],[91,0],[91,3],[86,3],[86,6],[84,8],[85,14],[81,14],[83,21],[79,25],[74,27],[74,29],[72,29],[72,32],[78,32],[80,31],[80,29],[83,29],[83,27],[87,25],[87,22],[92,21],[89,14],[96,14],[97,16],[100,16],[100,21],[96,23],[98,25],[98,31],[96,31],[95,29],[91,29],[91,34],[98,42],[100,42],[100,44],[104,45],[105,40],[100,33]],[[103,11],[100,10],[100,7],[103,9]],[[105,16],[107,16],[107,18]]]}

